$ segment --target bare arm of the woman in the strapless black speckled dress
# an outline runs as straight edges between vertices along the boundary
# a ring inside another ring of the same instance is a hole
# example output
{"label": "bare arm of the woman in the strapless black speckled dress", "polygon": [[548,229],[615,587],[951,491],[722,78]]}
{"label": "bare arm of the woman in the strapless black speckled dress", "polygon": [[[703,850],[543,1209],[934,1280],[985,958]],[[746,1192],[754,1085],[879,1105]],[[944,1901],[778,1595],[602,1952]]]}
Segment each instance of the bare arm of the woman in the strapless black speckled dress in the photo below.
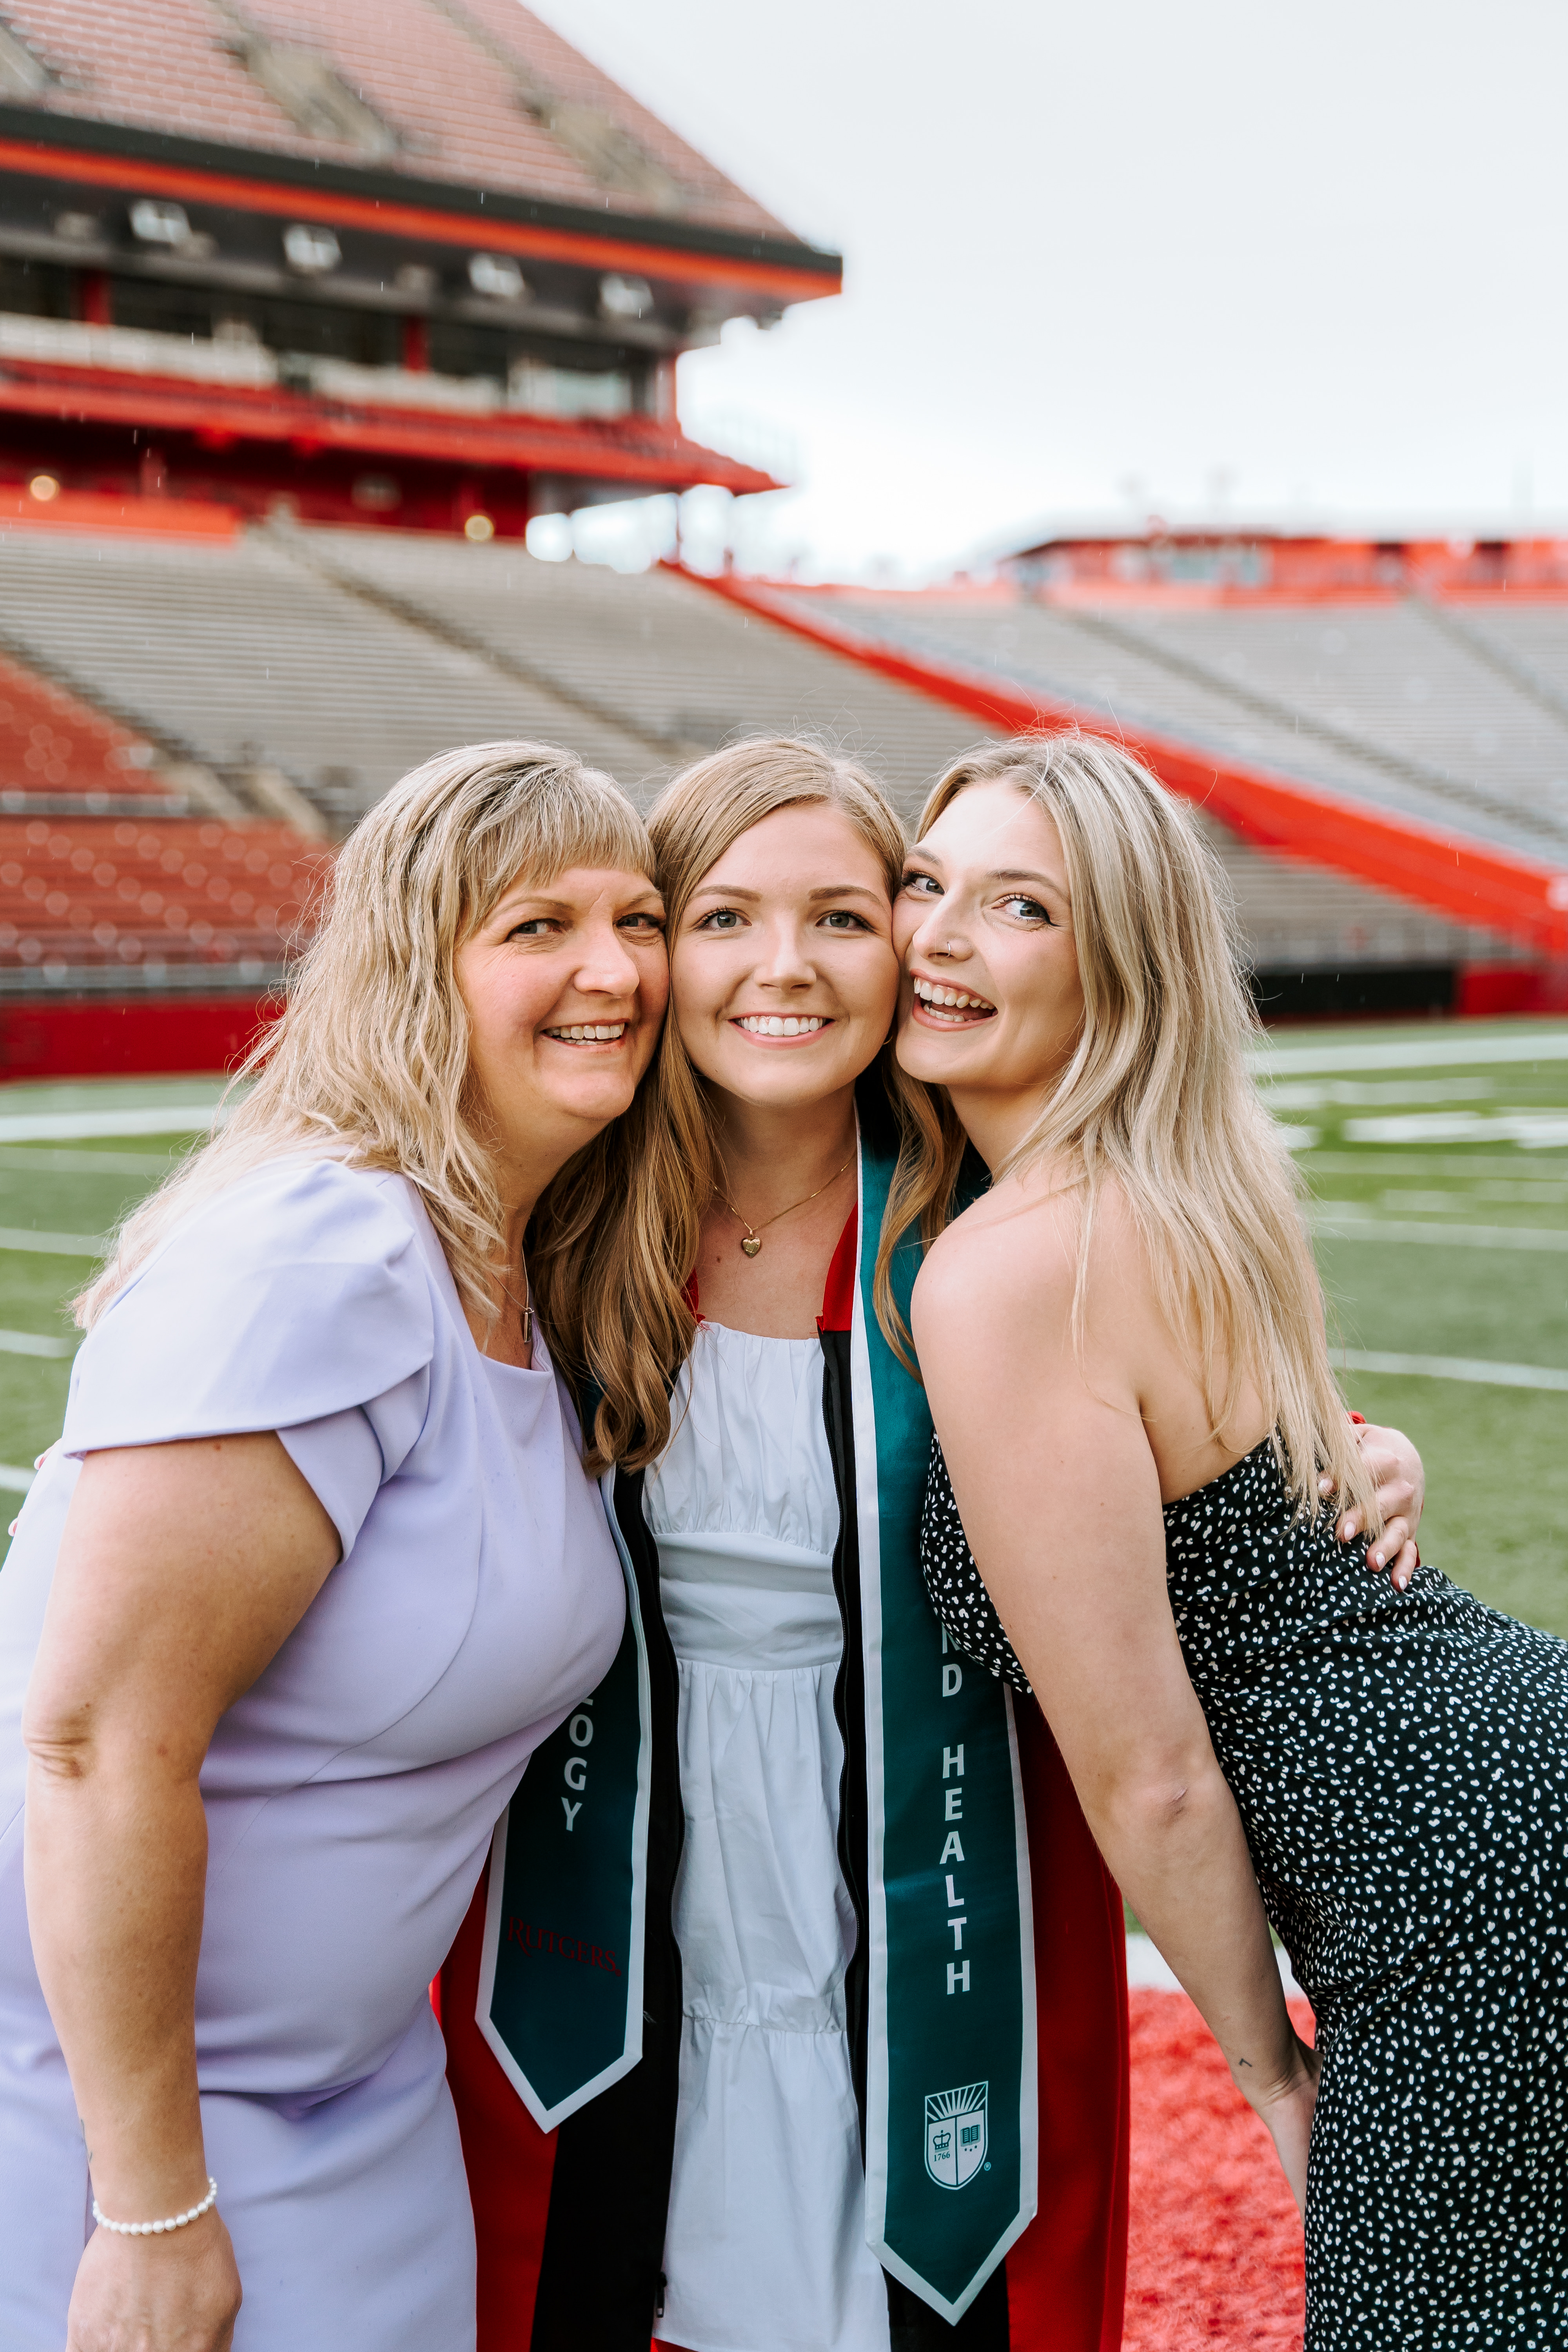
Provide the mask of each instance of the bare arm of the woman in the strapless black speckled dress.
{"label": "bare arm of the woman in the strapless black speckled dress", "polygon": [[1100,1287],[1091,1334],[1107,1338],[1086,1378],[1067,1341],[1072,1258],[1046,1242],[1046,1218],[954,1230],[933,1251],[914,1291],[931,1411],[976,1564],[1095,1842],[1302,2201],[1316,2067],[1171,1621],[1138,1385],[1147,1305],[1133,1284]]}

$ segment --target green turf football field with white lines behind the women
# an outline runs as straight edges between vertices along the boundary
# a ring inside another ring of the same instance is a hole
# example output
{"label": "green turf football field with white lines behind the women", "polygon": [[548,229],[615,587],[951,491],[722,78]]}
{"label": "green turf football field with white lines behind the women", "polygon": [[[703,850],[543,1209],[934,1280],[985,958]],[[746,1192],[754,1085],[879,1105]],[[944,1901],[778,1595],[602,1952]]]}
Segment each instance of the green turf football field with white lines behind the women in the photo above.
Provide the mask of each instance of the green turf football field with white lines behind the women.
{"label": "green turf football field with white lines behind the women", "polygon": [[[1422,1550],[1568,1635],[1568,1023],[1281,1030],[1260,1082],[1312,1190],[1349,1399],[1427,1458]],[[219,1091],[0,1089],[12,1489],[59,1432],[89,1237],[190,1148]]]}

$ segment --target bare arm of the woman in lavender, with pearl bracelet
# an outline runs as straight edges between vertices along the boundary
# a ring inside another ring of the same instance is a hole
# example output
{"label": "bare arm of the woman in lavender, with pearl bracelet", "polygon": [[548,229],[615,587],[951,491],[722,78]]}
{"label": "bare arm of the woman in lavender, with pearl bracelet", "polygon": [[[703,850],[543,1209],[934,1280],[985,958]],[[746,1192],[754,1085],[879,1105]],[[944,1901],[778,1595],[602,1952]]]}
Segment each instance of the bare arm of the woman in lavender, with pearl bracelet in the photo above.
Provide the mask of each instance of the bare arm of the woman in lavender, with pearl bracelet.
{"label": "bare arm of the woman in lavender, with pearl bracelet", "polygon": [[[270,1432],[82,1463],[24,1717],[26,1886],[38,1978],[110,2220],[162,2220],[207,2194],[197,1776],[219,1717],[336,1557],[331,1519]],[[162,2237],[99,2230],[71,2347],[219,2352],[237,2305],[216,2211]]]}

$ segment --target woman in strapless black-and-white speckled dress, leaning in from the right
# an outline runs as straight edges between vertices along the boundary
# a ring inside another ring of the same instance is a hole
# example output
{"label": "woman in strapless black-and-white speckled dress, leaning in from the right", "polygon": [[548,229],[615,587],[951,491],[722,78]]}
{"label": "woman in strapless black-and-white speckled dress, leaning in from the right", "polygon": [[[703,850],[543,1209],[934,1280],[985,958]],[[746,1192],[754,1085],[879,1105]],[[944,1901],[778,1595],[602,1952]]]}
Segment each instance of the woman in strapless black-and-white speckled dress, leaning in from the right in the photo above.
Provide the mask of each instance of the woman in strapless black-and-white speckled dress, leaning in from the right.
{"label": "woman in strapless black-and-white speckled dress, leaning in from the right", "polygon": [[1563,2347],[1568,1644],[1378,1548],[1222,877],[1117,746],[1030,739],[936,788],[898,946],[950,1122],[898,1214],[964,1134],[992,1169],[912,1310],[947,1632],[1034,1689],[1267,2124],[1307,2352]]}

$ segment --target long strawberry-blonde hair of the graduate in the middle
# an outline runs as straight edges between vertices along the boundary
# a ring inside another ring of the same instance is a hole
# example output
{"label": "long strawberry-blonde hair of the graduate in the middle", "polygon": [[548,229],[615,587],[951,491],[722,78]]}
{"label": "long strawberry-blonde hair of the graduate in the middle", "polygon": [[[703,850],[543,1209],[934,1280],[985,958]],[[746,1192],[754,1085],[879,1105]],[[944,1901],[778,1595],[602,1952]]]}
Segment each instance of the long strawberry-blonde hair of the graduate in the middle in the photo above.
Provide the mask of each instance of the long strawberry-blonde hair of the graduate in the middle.
{"label": "long strawberry-blonde hair of the graduate in the middle", "polygon": [[[656,877],[670,938],[703,875],[778,809],[842,809],[879,858],[889,896],[903,880],[907,837],[898,811],[863,767],[804,736],[757,736],[698,760],[649,811]],[[896,1098],[914,1089],[884,1058]],[[719,1178],[719,1129],[675,1016],[665,1021],[654,1080],[639,1105],[548,1188],[529,1275],[550,1343],[604,1390],[588,1465],[637,1468],[670,1439],[670,1378],[696,1334],[686,1282],[698,1228]],[[628,1279],[635,1268],[635,1279]],[[656,1305],[658,1301],[658,1305]]]}

